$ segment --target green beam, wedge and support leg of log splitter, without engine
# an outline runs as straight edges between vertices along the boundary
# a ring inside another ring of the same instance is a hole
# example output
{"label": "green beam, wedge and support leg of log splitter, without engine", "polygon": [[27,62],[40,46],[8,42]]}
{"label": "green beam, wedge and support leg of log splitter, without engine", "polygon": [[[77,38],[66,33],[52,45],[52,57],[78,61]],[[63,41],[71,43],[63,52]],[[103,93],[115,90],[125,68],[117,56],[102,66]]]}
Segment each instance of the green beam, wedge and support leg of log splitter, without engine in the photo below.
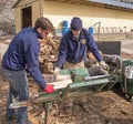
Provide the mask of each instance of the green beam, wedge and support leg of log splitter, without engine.
{"label": "green beam, wedge and support leg of log splitter, without engine", "polygon": [[[117,82],[116,79],[120,79],[115,75],[96,75],[90,76],[88,69],[69,69],[69,70],[61,70],[60,75],[68,76],[70,75],[71,80],[66,80],[66,86],[57,87],[52,94],[47,94],[44,92],[39,92],[37,97],[29,100],[29,101],[14,101],[10,104],[10,108],[18,108],[28,105],[32,105],[33,103],[43,103],[43,107],[45,111],[44,114],[44,124],[48,124],[48,116],[50,112],[50,106],[53,101],[59,99],[68,99],[68,97],[76,97],[84,94],[92,94],[98,93],[106,90],[111,90],[113,85]],[[68,76],[69,78],[69,76]],[[54,75],[51,76],[54,79]],[[65,81],[58,81],[55,84],[63,83]]]}

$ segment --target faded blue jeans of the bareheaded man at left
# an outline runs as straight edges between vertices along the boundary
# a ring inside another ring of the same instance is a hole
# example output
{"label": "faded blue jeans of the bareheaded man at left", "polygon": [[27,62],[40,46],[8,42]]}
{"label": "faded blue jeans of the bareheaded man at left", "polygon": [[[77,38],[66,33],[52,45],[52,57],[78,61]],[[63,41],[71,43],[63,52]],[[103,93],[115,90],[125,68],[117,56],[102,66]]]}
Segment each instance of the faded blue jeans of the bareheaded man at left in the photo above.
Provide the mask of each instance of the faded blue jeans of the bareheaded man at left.
{"label": "faded blue jeans of the bareheaded man at left", "polygon": [[[18,97],[18,101],[28,101],[28,78],[24,70],[22,71],[9,71],[2,69],[3,76],[9,82],[9,97],[7,102],[6,116],[13,117],[16,110],[9,108],[10,103],[12,103],[12,97]],[[17,124],[22,124],[28,121],[27,107],[19,107],[17,110]]]}

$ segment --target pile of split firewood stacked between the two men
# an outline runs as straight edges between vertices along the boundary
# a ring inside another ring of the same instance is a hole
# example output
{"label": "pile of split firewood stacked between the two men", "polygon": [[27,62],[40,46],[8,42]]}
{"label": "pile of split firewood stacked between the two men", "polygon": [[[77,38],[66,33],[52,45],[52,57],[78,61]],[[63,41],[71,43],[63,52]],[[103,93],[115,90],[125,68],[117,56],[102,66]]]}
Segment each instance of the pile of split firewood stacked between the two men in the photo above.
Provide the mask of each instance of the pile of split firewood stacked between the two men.
{"label": "pile of split firewood stacked between the two men", "polygon": [[60,40],[49,37],[47,39],[40,40],[40,70],[42,73],[50,74],[53,72],[54,63],[57,62]]}

